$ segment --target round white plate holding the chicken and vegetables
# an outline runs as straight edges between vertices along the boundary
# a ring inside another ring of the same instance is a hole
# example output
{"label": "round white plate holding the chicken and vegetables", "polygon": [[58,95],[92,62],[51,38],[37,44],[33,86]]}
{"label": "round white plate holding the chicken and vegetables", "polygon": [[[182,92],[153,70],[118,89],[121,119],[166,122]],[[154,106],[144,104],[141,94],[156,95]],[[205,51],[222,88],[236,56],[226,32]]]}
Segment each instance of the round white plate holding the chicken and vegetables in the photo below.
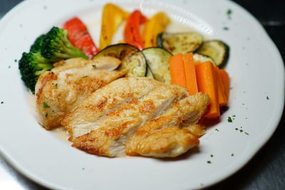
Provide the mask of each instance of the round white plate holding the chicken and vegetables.
{"label": "round white plate holding the chicken and vegetables", "polygon": [[[229,110],[221,122],[207,129],[198,151],[170,160],[96,157],[38,125],[14,60],[28,51],[39,34],[71,16],[80,16],[98,42],[106,2],[24,1],[1,20],[1,152],[16,169],[52,189],[199,189],[243,167],[278,125],[284,105],[284,65],[257,20],[231,1],[116,1],[124,9],[139,8],[147,15],[163,10],[172,21],[229,44]],[[236,117],[229,123],[227,117],[232,115]],[[244,132],[239,132],[240,127]]]}

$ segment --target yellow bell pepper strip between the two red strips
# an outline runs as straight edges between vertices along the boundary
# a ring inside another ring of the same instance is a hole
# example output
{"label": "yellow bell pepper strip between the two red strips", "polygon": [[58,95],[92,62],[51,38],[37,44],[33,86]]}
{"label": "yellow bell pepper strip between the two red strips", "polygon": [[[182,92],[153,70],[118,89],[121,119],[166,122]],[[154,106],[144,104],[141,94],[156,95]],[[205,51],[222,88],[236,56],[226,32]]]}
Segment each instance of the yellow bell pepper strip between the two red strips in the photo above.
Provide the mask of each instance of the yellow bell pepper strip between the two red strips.
{"label": "yellow bell pepper strip between the two red strips", "polygon": [[100,49],[112,43],[115,31],[117,31],[120,24],[128,18],[128,15],[128,12],[114,4],[105,4],[101,23]]}

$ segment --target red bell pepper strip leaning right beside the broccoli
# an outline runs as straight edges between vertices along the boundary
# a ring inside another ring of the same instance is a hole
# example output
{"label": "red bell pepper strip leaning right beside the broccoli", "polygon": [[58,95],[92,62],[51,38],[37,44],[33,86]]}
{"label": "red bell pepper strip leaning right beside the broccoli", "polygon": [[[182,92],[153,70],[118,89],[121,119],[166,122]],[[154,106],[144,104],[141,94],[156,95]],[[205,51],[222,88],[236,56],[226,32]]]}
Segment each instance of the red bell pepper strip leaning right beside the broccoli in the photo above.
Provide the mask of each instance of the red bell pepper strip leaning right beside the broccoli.
{"label": "red bell pepper strip leaning right beside the broccoli", "polygon": [[77,17],[70,19],[63,24],[63,28],[68,31],[68,40],[71,41],[72,45],[83,51],[88,58],[91,59],[98,53],[98,48],[80,19]]}

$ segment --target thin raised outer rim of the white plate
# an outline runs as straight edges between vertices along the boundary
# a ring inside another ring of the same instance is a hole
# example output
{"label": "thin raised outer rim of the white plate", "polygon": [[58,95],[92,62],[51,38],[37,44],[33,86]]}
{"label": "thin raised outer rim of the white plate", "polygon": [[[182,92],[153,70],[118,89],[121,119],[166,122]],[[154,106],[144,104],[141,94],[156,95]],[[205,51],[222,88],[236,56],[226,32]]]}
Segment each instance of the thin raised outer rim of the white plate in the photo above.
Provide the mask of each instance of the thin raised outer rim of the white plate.
{"label": "thin raised outer rim of the white plate", "polygon": [[[16,14],[16,11],[18,11],[19,9],[22,9],[24,6],[32,3],[33,1],[35,1],[35,0],[21,1],[19,4],[14,6],[10,11],[8,11],[0,19],[0,30],[2,27],[5,26],[5,23],[7,21],[9,21],[9,19],[11,19],[14,16],[14,14]],[[242,169],[257,154],[257,152],[259,152],[261,150],[261,148],[264,147],[266,142],[269,141],[269,139],[272,137],[272,135],[276,131],[277,127],[279,127],[279,122],[281,120],[282,115],[284,115],[284,102],[285,102],[285,85],[284,85],[285,84],[285,74],[284,73],[285,73],[285,68],[284,68],[284,61],[281,57],[281,53],[280,53],[279,49],[276,47],[276,44],[270,38],[269,34],[266,33],[263,26],[261,26],[261,23],[259,23],[259,21],[249,11],[247,11],[247,9],[244,9],[244,7],[240,6],[239,4],[237,4],[234,1],[227,1],[227,3],[235,6],[237,9],[242,11],[243,14],[247,14],[247,17],[249,17],[250,19],[252,19],[252,21],[254,21],[255,26],[259,27],[258,30],[262,31],[262,36],[264,36],[264,39],[266,38],[266,43],[269,43],[270,48],[273,48],[273,52],[276,56],[276,60],[278,60],[278,63],[280,63],[278,66],[279,66],[279,68],[281,68],[280,70],[282,70],[281,75],[280,75],[280,78],[282,80],[281,83],[283,83],[283,86],[281,89],[281,97],[282,98],[279,101],[279,103],[281,103],[281,105],[279,107],[276,107],[276,110],[275,110],[276,115],[274,115],[274,118],[272,119],[273,121],[271,122],[272,127],[267,129],[267,132],[268,132],[267,135],[264,136],[264,134],[263,134],[263,136],[261,136],[261,137],[264,137],[264,139],[262,139],[261,141],[257,142],[257,144],[255,144],[256,146],[254,146],[254,148],[252,148],[254,150],[249,152],[249,154],[247,154],[247,157],[242,157],[241,159],[239,159],[239,163],[240,163],[239,165],[235,165],[234,167],[232,167],[232,169],[230,169],[230,171],[224,170],[224,172],[222,174],[219,174],[220,177],[218,180],[215,179],[215,180],[209,181],[209,182],[207,182],[207,184],[204,184],[203,186],[201,186],[201,188],[206,188],[206,187],[212,186],[214,184],[217,184],[220,181],[224,181],[229,176],[236,174],[237,171]],[[41,185],[46,186],[46,187],[51,188],[51,189],[65,189],[66,188],[64,186],[58,186],[58,184],[54,184],[51,181],[46,181],[45,179],[34,175],[28,169],[21,167],[21,164],[19,162],[17,162],[17,160],[14,157],[11,157],[11,155],[9,155],[9,151],[7,151],[4,147],[2,147],[1,144],[0,144],[0,154],[4,157],[6,162],[11,164],[14,167],[14,169],[16,169],[16,171],[19,171],[21,174],[24,174],[24,176],[28,177],[28,179],[31,179],[32,181],[35,181],[36,183],[41,184]]]}

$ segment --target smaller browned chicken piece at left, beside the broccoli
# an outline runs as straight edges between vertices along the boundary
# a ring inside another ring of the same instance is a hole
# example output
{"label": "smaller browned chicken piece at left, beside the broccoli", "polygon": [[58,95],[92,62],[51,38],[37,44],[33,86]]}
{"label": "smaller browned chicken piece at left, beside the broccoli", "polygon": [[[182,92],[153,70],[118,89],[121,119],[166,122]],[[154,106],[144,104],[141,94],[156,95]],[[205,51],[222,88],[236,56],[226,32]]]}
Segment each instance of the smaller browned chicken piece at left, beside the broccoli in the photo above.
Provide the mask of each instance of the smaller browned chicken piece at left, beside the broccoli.
{"label": "smaller browned chicken piece at left, beside the broccoli", "polygon": [[36,83],[38,121],[46,130],[60,125],[79,102],[104,85],[125,75],[123,71],[98,70],[90,60],[73,58],[56,63]]}

